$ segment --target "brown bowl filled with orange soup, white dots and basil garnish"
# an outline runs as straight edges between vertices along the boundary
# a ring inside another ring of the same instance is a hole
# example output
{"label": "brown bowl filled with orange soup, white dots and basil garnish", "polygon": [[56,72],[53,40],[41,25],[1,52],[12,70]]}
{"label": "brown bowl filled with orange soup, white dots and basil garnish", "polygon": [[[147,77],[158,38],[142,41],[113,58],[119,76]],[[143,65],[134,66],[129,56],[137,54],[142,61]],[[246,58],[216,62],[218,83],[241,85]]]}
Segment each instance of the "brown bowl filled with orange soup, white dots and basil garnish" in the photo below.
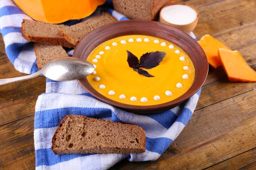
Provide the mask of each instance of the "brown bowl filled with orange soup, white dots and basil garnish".
{"label": "brown bowl filled with orange soup, white dots and basil garnish", "polygon": [[163,23],[128,20],[87,34],[73,57],[95,71],[79,83],[97,99],[140,113],[160,113],[184,102],[203,85],[208,62],[198,43]]}

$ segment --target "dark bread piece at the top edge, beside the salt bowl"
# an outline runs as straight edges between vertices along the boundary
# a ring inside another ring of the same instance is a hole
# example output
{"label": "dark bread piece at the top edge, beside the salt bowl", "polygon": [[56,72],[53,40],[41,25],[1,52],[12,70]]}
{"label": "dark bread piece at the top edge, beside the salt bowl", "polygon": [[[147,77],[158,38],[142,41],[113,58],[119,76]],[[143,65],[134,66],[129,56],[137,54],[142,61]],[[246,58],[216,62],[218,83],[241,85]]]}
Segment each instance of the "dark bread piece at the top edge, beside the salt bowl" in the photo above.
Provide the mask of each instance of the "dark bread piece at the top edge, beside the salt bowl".
{"label": "dark bread piece at the top edge, beside the salt bowl", "polygon": [[177,0],[113,0],[116,11],[133,20],[157,20],[160,9]]}

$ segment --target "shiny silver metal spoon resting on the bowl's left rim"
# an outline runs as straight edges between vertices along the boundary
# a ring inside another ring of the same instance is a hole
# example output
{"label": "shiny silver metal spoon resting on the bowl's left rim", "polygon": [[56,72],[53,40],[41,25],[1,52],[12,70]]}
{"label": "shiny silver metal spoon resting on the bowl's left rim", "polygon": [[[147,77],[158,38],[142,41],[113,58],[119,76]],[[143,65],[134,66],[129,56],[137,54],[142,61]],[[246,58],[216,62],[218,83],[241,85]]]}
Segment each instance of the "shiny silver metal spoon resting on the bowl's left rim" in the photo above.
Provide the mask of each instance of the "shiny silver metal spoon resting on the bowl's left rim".
{"label": "shiny silver metal spoon resting on the bowl's left rim", "polygon": [[55,81],[71,81],[92,74],[94,69],[94,66],[86,60],[74,57],[61,57],[48,62],[41,70],[34,74],[10,79],[0,79],[0,85],[32,79],[38,77],[40,74]]}

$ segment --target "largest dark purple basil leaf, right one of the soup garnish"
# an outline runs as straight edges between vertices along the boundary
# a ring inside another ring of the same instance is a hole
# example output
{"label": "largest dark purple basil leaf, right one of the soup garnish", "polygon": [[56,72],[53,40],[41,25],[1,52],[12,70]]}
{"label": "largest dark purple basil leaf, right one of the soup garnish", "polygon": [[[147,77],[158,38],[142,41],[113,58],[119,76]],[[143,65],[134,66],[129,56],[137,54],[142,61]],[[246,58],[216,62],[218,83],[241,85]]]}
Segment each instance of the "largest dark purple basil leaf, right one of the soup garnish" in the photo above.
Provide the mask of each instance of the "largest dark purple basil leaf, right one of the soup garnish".
{"label": "largest dark purple basil leaf, right one of the soup garnish", "polygon": [[161,61],[163,61],[165,56],[166,53],[163,51],[145,53],[140,57],[140,67],[145,69],[154,68],[159,65]]}

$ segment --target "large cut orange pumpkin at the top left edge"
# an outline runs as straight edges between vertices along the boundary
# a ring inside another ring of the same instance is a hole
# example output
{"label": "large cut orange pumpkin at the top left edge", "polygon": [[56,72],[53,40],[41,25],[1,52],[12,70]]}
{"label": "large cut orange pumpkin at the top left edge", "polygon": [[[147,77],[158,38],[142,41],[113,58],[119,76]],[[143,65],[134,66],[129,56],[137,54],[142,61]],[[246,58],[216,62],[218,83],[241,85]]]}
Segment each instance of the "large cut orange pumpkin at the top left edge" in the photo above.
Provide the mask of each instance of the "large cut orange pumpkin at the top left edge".
{"label": "large cut orange pumpkin at the top left edge", "polygon": [[17,6],[34,20],[63,23],[92,14],[106,0],[14,0]]}

